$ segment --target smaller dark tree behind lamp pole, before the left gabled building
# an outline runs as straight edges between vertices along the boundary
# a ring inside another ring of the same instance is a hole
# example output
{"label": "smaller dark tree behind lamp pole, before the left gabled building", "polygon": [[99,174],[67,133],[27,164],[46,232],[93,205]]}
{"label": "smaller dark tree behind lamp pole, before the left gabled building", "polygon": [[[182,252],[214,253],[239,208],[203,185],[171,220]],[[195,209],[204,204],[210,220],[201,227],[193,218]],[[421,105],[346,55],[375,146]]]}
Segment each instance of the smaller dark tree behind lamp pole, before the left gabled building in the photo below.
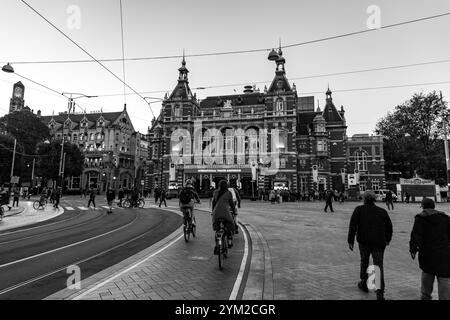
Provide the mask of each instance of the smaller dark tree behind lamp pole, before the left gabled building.
{"label": "smaller dark tree behind lamp pole, before the left gabled building", "polygon": [[[77,145],[64,143],[66,154],[64,176],[79,176],[83,172],[84,155]],[[38,146],[39,161],[37,173],[46,179],[57,180],[59,177],[59,163],[61,159],[61,141],[54,140],[49,144]]]}

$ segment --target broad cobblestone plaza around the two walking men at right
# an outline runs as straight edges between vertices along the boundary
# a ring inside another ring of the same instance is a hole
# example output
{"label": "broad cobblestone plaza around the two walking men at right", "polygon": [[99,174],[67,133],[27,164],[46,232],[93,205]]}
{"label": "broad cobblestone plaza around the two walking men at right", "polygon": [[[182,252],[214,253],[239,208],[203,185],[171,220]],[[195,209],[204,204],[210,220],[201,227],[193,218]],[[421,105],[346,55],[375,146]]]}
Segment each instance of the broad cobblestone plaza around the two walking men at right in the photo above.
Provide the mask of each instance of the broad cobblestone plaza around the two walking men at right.
{"label": "broad cobblestone plaza around the two walking men at right", "polygon": [[[333,205],[335,213],[325,213],[318,201],[243,203],[241,220],[259,230],[270,251],[274,299],[375,299],[374,293],[357,289],[359,251],[347,245],[350,216],[358,203]],[[450,205],[437,204],[437,209],[448,213]],[[389,211],[394,235],[385,252],[387,299],[419,298],[420,269],[409,255],[419,210],[418,203],[399,203]]]}

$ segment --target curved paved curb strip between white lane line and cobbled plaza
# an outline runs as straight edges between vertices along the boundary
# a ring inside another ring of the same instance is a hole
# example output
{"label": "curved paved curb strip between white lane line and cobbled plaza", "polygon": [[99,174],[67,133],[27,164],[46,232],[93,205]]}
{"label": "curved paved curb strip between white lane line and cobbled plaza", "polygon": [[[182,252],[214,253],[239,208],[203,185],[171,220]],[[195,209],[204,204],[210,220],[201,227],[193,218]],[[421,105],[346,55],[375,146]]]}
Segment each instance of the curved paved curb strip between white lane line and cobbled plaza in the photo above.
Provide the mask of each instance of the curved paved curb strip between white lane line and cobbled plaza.
{"label": "curved paved curb strip between white lane line and cobbled plaza", "polygon": [[257,230],[249,223],[242,222],[252,242],[250,271],[245,284],[243,300],[273,300],[273,270],[269,246]]}

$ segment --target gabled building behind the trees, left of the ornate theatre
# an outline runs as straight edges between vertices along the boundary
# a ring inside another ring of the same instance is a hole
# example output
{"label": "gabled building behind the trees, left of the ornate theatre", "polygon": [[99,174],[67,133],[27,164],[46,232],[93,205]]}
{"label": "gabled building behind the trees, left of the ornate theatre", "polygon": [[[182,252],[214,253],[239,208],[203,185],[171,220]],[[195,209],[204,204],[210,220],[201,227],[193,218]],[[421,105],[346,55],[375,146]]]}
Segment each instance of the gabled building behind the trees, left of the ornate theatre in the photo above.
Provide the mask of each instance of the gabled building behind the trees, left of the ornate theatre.
{"label": "gabled building behind the trees, left of the ornate theatre", "polygon": [[120,112],[64,112],[42,116],[41,120],[53,139],[78,145],[85,156],[82,175],[65,178],[67,190],[142,188],[147,136],[134,130],[126,107]]}

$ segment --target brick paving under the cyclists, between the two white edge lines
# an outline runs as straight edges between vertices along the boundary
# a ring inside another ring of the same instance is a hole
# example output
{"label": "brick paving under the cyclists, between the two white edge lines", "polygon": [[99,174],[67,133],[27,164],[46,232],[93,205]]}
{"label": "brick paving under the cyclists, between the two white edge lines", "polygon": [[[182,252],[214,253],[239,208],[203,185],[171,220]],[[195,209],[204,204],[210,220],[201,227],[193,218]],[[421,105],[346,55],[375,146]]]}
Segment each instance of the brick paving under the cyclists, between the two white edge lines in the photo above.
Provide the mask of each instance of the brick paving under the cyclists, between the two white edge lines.
{"label": "brick paving under the cyclists, between the two white edge lines", "polygon": [[[242,232],[235,237],[221,271],[217,257],[213,255],[211,215],[197,210],[195,214],[197,238],[191,238],[188,243],[183,238],[179,239],[158,255],[82,299],[228,299],[243,257]],[[104,295],[105,292],[108,295]]]}

